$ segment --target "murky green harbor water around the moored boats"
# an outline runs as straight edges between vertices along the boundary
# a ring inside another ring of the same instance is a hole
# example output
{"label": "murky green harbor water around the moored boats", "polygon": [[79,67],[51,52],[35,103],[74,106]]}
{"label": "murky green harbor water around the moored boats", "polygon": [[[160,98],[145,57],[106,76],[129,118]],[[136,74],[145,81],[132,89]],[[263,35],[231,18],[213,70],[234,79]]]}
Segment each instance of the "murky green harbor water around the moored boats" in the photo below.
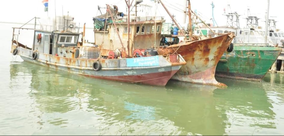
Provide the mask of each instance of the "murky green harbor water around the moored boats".
{"label": "murky green harbor water around the moored boats", "polygon": [[283,74],[217,78],[228,88],[98,80],[13,56],[15,26],[0,23],[0,135],[284,135]]}

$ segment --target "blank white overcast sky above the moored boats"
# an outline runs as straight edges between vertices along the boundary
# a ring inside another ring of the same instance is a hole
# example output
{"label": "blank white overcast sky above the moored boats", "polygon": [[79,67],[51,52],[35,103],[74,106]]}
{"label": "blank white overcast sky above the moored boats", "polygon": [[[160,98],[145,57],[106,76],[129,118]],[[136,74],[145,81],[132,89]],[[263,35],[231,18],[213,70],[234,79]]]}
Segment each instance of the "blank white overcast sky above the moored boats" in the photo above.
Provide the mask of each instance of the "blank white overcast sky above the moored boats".
{"label": "blank white overcast sky above the moored boats", "polygon": [[[126,12],[125,0],[49,0],[48,3],[48,14],[44,12],[44,5],[42,0],[9,0],[0,4],[0,22],[22,22],[26,23],[33,17],[45,18],[47,16],[53,17],[67,15],[69,11],[69,16],[73,16],[74,21],[82,24],[86,23],[86,27],[92,27],[93,21],[92,17],[100,15],[98,12],[98,5],[105,7],[105,4],[117,5],[120,12]],[[182,10],[185,7],[182,6],[185,0],[162,0],[167,6],[168,10],[176,16],[177,21],[182,20],[184,13]],[[214,18],[219,26],[226,25],[226,16],[223,16],[224,8],[227,11],[227,5],[230,4],[231,12],[237,12],[240,16],[240,25],[244,27],[246,25],[247,9],[250,9],[251,16],[258,16],[261,18],[259,20],[259,25],[264,28],[265,25],[265,13],[267,10],[267,0],[191,0],[191,9],[197,10],[200,15],[202,15],[203,20],[207,23],[208,20],[212,18],[212,7],[211,2],[213,1],[214,7]],[[150,0],[144,0],[144,2],[150,2]],[[281,2],[281,3],[280,3]],[[133,2],[134,3],[134,2]],[[282,0],[270,0],[269,16],[270,19],[275,19],[276,28],[284,30],[284,18],[282,18]],[[134,4],[133,4],[134,5]],[[154,4],[152,4],[155,7]],[[56,8],[55,8],[56,6]],[[102,9],[105,12],[105,9]],[[145,12],[145,9],[144,9]],[[154,10],[146,11],[148,14],[154,14]],[[141,12],[140,12],[141,13]],[[144,13],[145,14],[145,13]],[[158,5],[157,16],[164,16],[166,22],[172,22],[169,15]],[[273,16],[273,17],[272,17]]]}

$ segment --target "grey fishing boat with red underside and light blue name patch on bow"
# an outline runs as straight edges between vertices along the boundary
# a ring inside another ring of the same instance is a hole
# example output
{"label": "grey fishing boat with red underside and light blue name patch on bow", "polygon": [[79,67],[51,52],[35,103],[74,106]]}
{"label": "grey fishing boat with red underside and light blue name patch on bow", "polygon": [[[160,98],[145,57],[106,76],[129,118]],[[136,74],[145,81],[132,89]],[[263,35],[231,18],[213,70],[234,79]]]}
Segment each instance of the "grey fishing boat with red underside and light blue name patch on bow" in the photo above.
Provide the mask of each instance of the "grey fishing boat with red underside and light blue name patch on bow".
{"label": "grey fishing boat with red underside and light blue name patch on bow", "polygon": [[[66,22],[55,23],[54,27],[35,23],[35,28],[13,27],[11,53],[27,62],[87,77],[161,86],[166,85],[181,66],[186,64],[179,54],[174,57],[147,54],[127,57],[127,54],[123,55],[124,50],[121,48],[114,51],[115,58],[103,58],[100,55],[101,48],[85,42],[85,24],[82,33],[78,33],[78,27],[72,21],[65,24]],[[21,35],[26,36],[21,30],[33,31],[30,36],[33,40],[32,47],[18,41]]]}

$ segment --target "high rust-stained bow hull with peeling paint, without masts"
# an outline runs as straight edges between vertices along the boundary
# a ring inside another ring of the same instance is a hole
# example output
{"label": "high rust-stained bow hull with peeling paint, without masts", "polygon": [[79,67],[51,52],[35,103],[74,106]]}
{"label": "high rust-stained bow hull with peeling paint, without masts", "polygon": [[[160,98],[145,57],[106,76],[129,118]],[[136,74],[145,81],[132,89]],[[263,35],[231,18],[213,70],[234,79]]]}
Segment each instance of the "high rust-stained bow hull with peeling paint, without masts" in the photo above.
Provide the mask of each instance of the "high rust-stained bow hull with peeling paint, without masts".
{"label": "high rust-stained bow hull with peeling paint, without masts", "polygon": [[174,80],[226,86],[215,80],[215,67],[234,37],[234,33],[227,33],[214,38],[174,44],[158,49],[158,53],[184,56],[187,64],[172,77]]}

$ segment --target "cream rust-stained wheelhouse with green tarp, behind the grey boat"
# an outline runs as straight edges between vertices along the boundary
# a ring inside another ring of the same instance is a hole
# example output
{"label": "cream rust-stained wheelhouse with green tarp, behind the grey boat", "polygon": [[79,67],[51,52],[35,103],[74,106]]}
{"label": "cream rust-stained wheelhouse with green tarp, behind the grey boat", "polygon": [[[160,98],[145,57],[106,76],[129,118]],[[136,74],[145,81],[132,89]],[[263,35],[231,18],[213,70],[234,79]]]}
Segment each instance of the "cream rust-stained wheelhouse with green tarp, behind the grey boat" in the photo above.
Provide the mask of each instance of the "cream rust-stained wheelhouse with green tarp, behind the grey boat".
{"label": "cream rust-stained wheelhouse with green tarp, behind the grey boat", "polygon": [[[109,50],[121,48],[121,45],[127,45],[124,50],[128,56],[135,55],[134,52],[138,48],[159,47],[161,27],[165,22],[163,17],[130,16],[128,20],[124,13],[118,12],[117,6],[113,7],[109,8],[110,12],[93,17],[95,44],[102,48],[102,56],[108,56]],[[115,26],[114,23],[117,25]]]}

